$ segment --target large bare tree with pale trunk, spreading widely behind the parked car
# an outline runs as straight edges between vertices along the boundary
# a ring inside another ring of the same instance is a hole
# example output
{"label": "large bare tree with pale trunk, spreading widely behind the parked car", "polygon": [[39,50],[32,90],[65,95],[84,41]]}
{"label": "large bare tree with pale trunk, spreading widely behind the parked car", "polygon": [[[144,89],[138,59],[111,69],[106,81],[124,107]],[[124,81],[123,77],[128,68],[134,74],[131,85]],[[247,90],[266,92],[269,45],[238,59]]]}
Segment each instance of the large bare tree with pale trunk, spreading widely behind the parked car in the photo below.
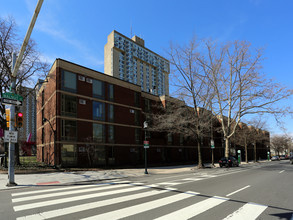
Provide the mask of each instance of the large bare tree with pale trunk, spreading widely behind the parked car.
{"label": "large bare tree with pale trunk, spreading widely behind the parked car", "polygon": [[[279,119],[289,113],[289,107],[278,102],[293,94],[260,73],[263,56],[261,49],[253,50],[244,41],[222,45],[203,41],[200,63],[204,81],[213,94],[211,110],[221,120],[225,139],[225,156],[229,142],[241,120],[251,114],[272,114]],[[198,85],[200,86],[200,85]]]}

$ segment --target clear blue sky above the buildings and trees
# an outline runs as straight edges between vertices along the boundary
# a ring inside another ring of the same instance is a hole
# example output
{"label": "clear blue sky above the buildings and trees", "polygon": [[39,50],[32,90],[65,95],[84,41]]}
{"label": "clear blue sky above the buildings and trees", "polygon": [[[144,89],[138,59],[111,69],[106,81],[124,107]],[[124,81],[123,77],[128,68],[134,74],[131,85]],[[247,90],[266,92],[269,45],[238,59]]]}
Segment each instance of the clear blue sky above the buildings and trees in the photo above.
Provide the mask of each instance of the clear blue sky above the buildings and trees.
{"label": "clear blue sky above the buildings and trees", "polygon": [[[24,38],[37,0],[0,0],[0,16],[13,16]],[[293,88],[292,0],[44,0],[32,38],[42,59],[56,58],[104,71],[104,45],[115,29],[145,40],[164,56],[169,43],[197,35],[219,41],[247,40],[264,47],[263,72]],[[287,104],[293,106],[293,99]],[[268,118],[269,130],[281,133]],[[285,118],[293,133],[293,120]]]}

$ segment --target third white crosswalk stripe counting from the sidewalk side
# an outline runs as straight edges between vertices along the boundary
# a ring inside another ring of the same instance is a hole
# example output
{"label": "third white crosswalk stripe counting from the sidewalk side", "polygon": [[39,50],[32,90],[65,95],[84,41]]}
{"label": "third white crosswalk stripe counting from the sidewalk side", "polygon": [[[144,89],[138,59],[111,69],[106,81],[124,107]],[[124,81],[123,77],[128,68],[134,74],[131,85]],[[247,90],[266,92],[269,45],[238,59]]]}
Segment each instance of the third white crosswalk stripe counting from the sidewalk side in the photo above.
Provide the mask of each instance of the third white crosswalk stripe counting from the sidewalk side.
{"label": "third white crosswalk stripe counting from the sidewalk side", "polygon": [[[114,185],[114,186],[116,186],[116,185]],[[114,187],[114,186],[112,186],[112,187]],[[117,186],[120,186],[120,185],[117,185]],[[118,194],[118,193],[133,192],[133,191],[143,190],[143,189],[147,189],[147,188],[148,188],[147,186],[132,186],[132,187],[126,188],[126,189],[118,189],[118,190],[105,191],[105,192],[93,193],[93,194],[88,194],[88,195],[81,195],[81,196],[74,196],[74,197],[69,197],[69,198],[61,198],[61,199],[48,200],[48,201],[43,201],[43,202],[29,203],[29,204],[25,204],[25,205],[18,205],[18,206],[14,206],[13,209],[14,209],[14,211],[17,212],[17,211],[23,211],[23,210],[28,210],[28,209],[46,207],[49,205],[57,205],[57,204],[80,201],[80,200],[85,200],[85,199],[101,197],[101,196],[108,196],[108,195],[113,195],[113,194]],[[111,188],[109,188],[109,189],[111,189]]]}

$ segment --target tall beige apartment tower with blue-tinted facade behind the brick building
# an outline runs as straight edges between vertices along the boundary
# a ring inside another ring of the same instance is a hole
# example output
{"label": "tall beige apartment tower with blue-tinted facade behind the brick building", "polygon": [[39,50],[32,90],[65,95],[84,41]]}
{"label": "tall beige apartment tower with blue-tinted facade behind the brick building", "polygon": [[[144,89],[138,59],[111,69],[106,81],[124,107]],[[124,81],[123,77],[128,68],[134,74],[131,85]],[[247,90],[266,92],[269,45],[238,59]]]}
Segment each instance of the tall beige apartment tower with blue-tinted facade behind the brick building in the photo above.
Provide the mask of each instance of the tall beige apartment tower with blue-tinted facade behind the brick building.
{"label": "tall beige apartment tower with blue-tinted facade behind the brick building", "polygon": [[153,95],[169,95],[170,63],[147,49],[144,40],[112,31],[104,47],[104,72],[141,86]]}

